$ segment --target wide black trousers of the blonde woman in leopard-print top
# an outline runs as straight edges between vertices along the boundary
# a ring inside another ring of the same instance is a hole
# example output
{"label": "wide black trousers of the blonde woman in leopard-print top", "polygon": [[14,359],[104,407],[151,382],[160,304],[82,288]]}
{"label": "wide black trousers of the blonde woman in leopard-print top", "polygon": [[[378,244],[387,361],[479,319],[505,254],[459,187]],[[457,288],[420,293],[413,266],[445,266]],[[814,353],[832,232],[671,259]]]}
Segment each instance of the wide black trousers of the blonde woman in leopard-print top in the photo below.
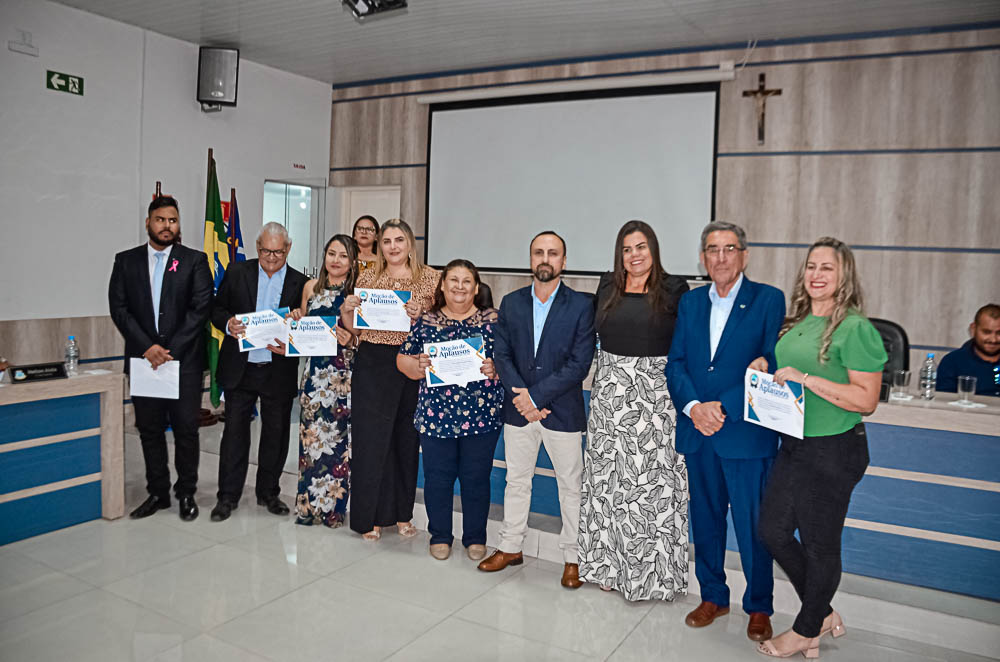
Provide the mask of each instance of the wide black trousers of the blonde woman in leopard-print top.
{"label": "wide black trousers of the blonde woman in leopard-print top", "polygon": [[367,533],[413,518],[419,383],[396,369],[398,345],[363,342],[351,377],[351,528]]}

